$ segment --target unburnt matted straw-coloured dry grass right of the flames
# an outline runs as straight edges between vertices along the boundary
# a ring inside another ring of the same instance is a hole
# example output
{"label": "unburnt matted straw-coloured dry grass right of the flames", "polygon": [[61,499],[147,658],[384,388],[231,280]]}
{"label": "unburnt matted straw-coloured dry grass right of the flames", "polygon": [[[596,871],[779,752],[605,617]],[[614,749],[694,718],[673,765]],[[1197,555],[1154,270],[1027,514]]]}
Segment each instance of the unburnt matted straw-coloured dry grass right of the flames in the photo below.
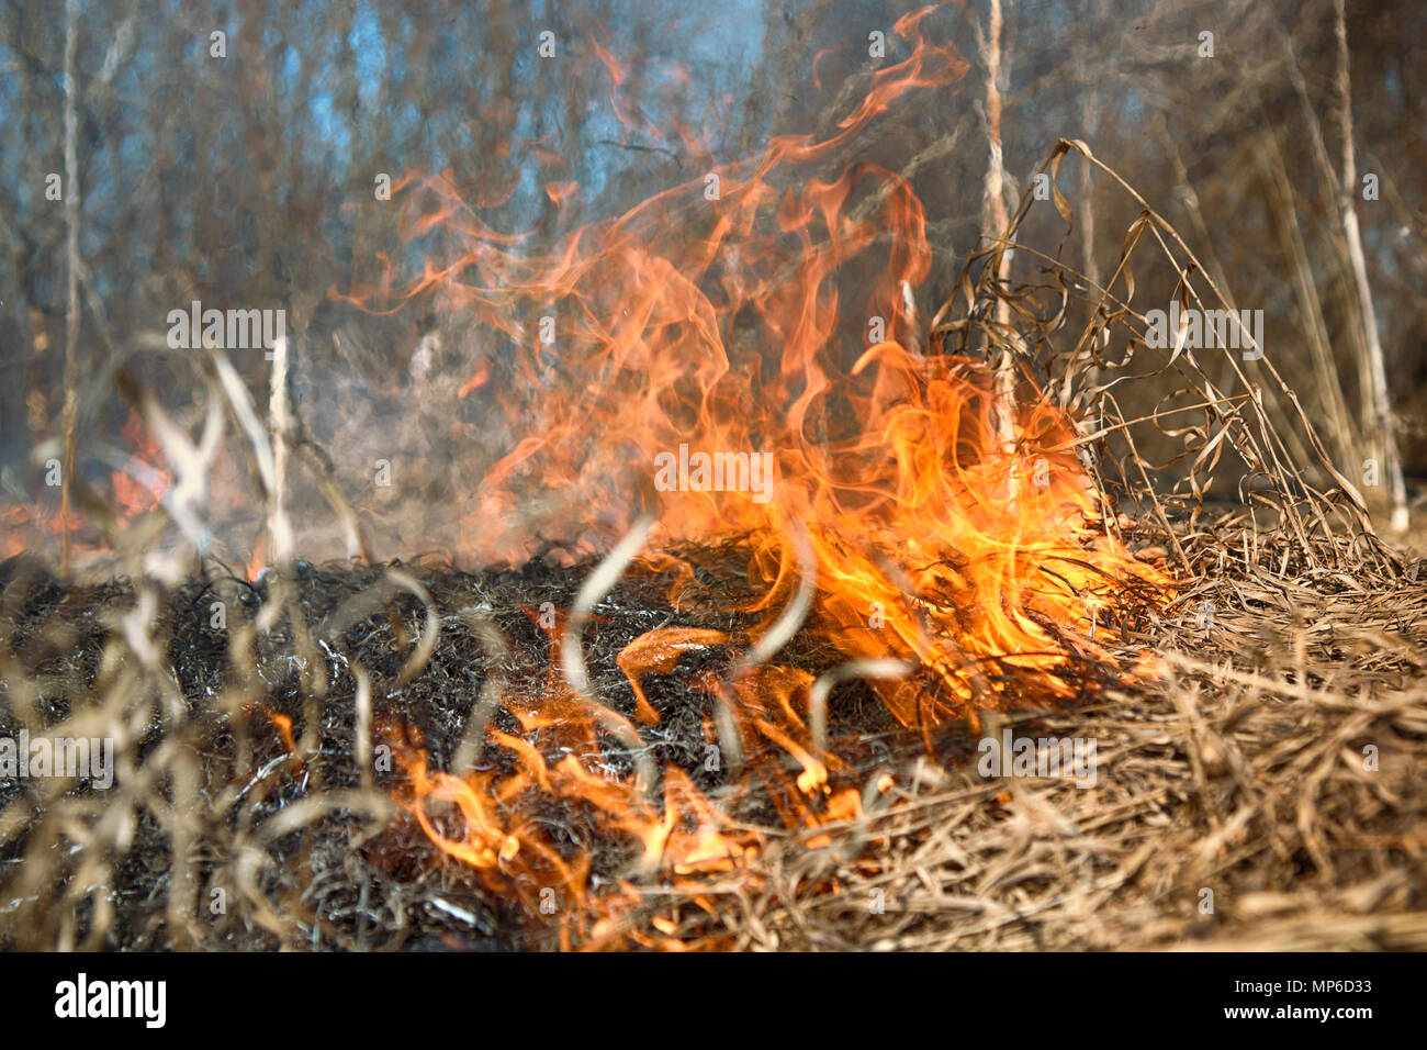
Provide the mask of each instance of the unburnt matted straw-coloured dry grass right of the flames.
{"label": "unburnt matted straw-coloured dry grass right of the flames", "polygon": [[848,846],[771,850],[691,929],[766,949],[1427,947],[1427,587],[1232,566],[1204,594],[1210,626],[1190,611],[1143,639],[1156,686],[1020,720],[1096,740],[1095,787],[913,760]]}

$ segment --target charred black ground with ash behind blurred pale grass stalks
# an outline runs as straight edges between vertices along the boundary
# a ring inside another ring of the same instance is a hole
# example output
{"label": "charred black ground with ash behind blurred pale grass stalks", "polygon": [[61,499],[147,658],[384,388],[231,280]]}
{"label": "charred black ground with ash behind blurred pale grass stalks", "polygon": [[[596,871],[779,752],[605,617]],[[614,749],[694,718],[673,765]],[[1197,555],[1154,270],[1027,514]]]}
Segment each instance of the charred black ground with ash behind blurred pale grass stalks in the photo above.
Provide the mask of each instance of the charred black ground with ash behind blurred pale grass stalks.
{"label": "charred black ground with ash behind blurred pale grass stalks", "polygon": [[[704,563],[714,566],[712,570],[699,569],[701,587],[695,591],[702,590],[704,600],[686,589],[681,597],[684,609],[669,601],[672,577],[626,576],[599,603],[584,634],[594,696],[624,714],[634,713],[634,693],[615,657],[648,630],[691,626],[736,631],[755,623],[748,616],[719,611],[748,597],[732,583],[733,570],[742,563],[736,549],[711,553]],[[204,579],[160,594],[154,636],[163,641],[167,669],[183,696],[183,739],[200,759],[203,803],[211,810],[197,846],[203,851],[198,870],[204,886],[227,879],[233,863],[231,839],[238,829],[260,826],[314,791],[360,786],[352,751],[352,661],[360,661],[371,676],[378,723],[388,719],[418,727],[428,766],[448,769],[489,674],[499,671],[509,690],[538,694],[549,656],[547,633],[537,624],[541,606],[548,601],[557,610],[569,609],[591,569],[589,564],[561,564],[554,557],[477,574],[430,563],[392,563],[391,567],[418,579],[430,590],[441,617],[435,651],[421,673],[404,683],[400,674],[417,646],[425,619],[424,603],[411,593],[381,590],[385,566],[297,564],[293,577],[297,604],[313,644],[323,654],[327,696],[321,703],[304,696],[295,656],[298,646],[285,620],[271,633],[257,636],[251,667],[230,666],[230,643],[235,633],[273,600],[271,576],[251,584],[210,564],[204,567]],[[19,729],[10,706],[11,680],[41,683],[41,724],[36,729],[31,723],[31,736],[60,726],[86,704],[101,703],[114,679],[113,667],[101,670],[103,653],[118,630],[118,617],[136,603],[133,584],[113,580],[66,586],[21,557],[0,566],[0,656],[6,671],[0,683],[0,736],[14,736]],[[374,610],[358,610],[364,614],[355,619],[342,611],[348,607],[344,603],[378,590],[384,600],[374,603]],[[224,627],[213,626],[215,601],[224,606]],[[472,630],[471,624],[482,617],[498,629],[507,646],[498,661],[487,651],[489,639],[482,640]],[[699,650],[685,654],[674,673],[645,679],[648,697],[662,716],[658,726],[641,727],[645,749],[656,767],[685,769],[709,794],[718,794],[728,773],[705,767],[704,719],[712,699],[696,687],[696,680],[705,671],[726,670],[733,659],[736,653],[728,649]],[[781,663],[813,674],[842,659],[812,631],[799,633],[779,654]],[[251,676],[240,671],[251,671]],[[240,683],[241,687],[244,679],[248,683],[245,699],[257,703],[245,706],[244,726],[235,726],[220,696],[225,684]],[[153,700],[134,696],[123,703],[128,711],[143,711],[146,704],[151,709],[136,746],[136,760],[143,764],[173,730],[166,734],[158,704]],[[895,751],[920,746],[915,734],[895,726],[860,681],[839,686],[829,710],[836,750],[856,769],[872,769]],[[273,713],[291,719],[291,733],[298,741],[308,730],[307,719],[315,713],[320,723],[317,753],[307,756],[301,770],[291,760],[284,761],[287,749]],[[505,711],[498,711],[492,724],[508,731],[518,727]],[[251,759],[245,764],[238,744],[244,734],[251,740]],[[604,739],[601,744],[609,764],[618,773],[628,771],[631,756],[625,746],[614,739]],[[508,759],[504,749],[487,746],[477,766],[498,766]],[[796,770],[791,759],[783,756],[783,760]],[[274,769],[277,773],[263,777],[253,789],[258,771]],[[377,786],[392,790],[400,780],[400,771],[378,773]],[[167,797],[168,784],[160,781],[157,790]],[[70,799],[86,794],[100,796],[86,781],[67,791]],[[101,810],[108,797],[100,796],[100,800]],[[0,906],[6,911],[23,904],[17,899],[24,883],[20,873],[30,866],[53,864],[53,879],[40,883],[50,893],[61,896],[74,889],[74,871],[61,857],[53,856],[59,847],[33,837],[44,811],[41,791],[33,781],[0,783],[0,816],[16,807],[29,807],[31,814],[21,821],[23,830],[0,847]],[[107,949],[170,946],[166,913],[173,889],[170,843],[153,807],[138,804],[136,811],[131,841],[111,857],[111,886],[106,893],[114,914],[98,934],[98,946]],[[595,881],[612,879],[631,854],[631,843],[601,840],[591,814],[581,811],[579,804],[554,804],[541,816],[557,846],[571,853],[577,843],[589,847]],[[751,823],[776,824],[771,807],[756,803],[736,816]],[[531,930],[512,896],[489,890],[469,870],[442,857],[412,820],[398,817],[391,829],[365,841],[357,834],[358,827],[358,820],[334,813],[315,823],[310,834],[287,836],[270,846],[274,863],[264,869],[263,890],[273,901],[291,906],[297,921],[311,931],[313,947],[501,950],[548,946],[545,933]],[[275,907],[281,910],[283,906]],[[275,944],[250,916],[230,914],[227,919],[231,921],[220,921],[204,947]],[[93,904],[81,903],[77,916],[81,940],[93,931],[94,921],[98,920]],[[0,923],[0,947],[29,947],[24,931]]]}

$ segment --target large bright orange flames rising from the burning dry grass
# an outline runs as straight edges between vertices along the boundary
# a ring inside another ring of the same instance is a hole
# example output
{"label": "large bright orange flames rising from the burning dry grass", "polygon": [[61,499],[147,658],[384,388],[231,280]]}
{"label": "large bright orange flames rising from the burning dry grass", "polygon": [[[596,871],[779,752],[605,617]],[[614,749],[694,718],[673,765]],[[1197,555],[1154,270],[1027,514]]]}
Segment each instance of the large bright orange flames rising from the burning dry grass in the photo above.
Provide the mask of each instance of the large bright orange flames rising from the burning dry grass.
{"label": "large bright orange flames rising from the burning dry grass", "polygon": [[[985,363],[919,344],[909,290],[932,251],[909,183],[869,163],[816,174],[898,99],[962,77],[965,61],[922,37],[926,13],[898,23],[910,57],[875,76],[831,139],[773,139],[549,253],[487,226],[450,179],[405,180],[412,236],[444,227],[469,249],[428,261],[398,306],[438,297],[488,337],[459,393],[515,436],[465,494],[462,557],[527,557],[531,506],[579,523],[575,554],[648,514],[629,571],[672,574],[675,607],[709,600],[681,551],[729,541],[755,593],[729,610],[756,619],[742,634],[668,627],[625,647],[628,714],[571,686],[551,630],[538,696],[507,703],[521,731],[487,730],[495,767],[430,770],[415,730],[381,726],[431,843],[532,916],[558,899],[565,946],[639,940],[621,917],[641,880],[685,884],[756,854],[759,837],[728,816],[752,793],[811,846],[858,817],[860,791],[825,729],[832,681],[778,663],[793,629],[836,646],[848,677],[869,677],[898,721],[926,733],[987,707],[1075,699],[1089,680],[1076,669],[1116,670],[1103,644],[1116,619],[1170,594],[1106,530],[1073,420],[1029,373],[1007,403]],[[601,54],[618,90],[624,67]],[[547,191],[561,201],[574,184]],[[342,297],[374,309],[382,289]],[[679,469],[661,477],[669,457]],[[701,647],[736,656],[704,680],[705,739],[729,766],[716,801],[686,769],[651,773],[629,757],[638,726],[661,720],[648,676]],[[589,851],[538,820],[551,800],[628,846],[618,880],[591,887]]]}

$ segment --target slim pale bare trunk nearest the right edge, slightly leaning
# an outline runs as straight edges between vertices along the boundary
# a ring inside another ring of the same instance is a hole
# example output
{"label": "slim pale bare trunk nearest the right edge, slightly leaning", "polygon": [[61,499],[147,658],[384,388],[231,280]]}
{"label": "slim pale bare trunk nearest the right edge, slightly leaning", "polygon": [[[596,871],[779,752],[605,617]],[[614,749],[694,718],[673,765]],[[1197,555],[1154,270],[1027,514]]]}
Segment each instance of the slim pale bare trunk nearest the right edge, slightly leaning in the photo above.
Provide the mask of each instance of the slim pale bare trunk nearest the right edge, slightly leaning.
{"label": "slim pale bare trunk nearest the right edge, slightly leaning", "polygon": [[1393,419],[1393,404],[1387,396],[1387,366],[1383,361],[1383,344],[1377,337],[1377,314],[1373,310],[1373,291],[1367,284],[1367,260],[1363,256],[1363,239],[1357,227],[1357,161],[1353,157],[1353,96],[1349,83],[1347,19],[1344,0],[1334,0],[1336,33],[1339,44],[1337,87],[1343,117],[1343,184],[1339,194],[1339,210],[1343,214],[1343,231],[1347,236],[1347,257],[1353,264],[1353,280],[1357,284],[1357,300],[1367,337],[1367,376],[1373,391],[1373,410],[1383,444],[1383,470],[1391,487],[1391,527],[1404,531],[1408,524],[1407,486],[1403,481],[1403,461],[1397,451],[1397,424]]}

